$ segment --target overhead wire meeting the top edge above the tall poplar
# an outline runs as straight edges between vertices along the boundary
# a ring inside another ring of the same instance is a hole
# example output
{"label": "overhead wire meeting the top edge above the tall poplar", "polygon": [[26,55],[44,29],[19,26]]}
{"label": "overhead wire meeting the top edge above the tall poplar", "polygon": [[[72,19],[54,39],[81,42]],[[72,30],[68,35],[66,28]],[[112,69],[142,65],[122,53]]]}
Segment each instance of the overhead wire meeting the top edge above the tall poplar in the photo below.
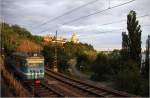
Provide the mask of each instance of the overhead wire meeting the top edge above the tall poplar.
{"label": "overhead wire meeting the top edge above the tall poplar", "polygon": [[[133,1],[136,1],[136,0],[130,0],[130,1],[128,1],[128,2],[125,2],[125,3],[122,3],[122,4],[118,4],[118,5],[115,5],[115,6],[112,6],[112,7],[108,7],[108,8],[103,9],[103,10],[98,10],[98,11],[96,11],[96,12],[94,12],[94,13],[91,13],[91,14],[88,14],[88,15],[85,15],[85,16],[82,16],[82,17],[79,17],[79,18],[73,19],[73,20],[68,21],[68,22],[64,22],[62,25],[70,24],[70,23],[73,23],[73,22],[79,21],[79,20],[81,20],[81,19],[84,19],[84,18],[87,18],[87,17],[93,16],[93,15],[96,15],[96,14],[100,14],[100,13],[102,13],[102,12],[105,12],[105,11],[111,10],[111,9],[113,9],[113,8],[117,8],[117,7],[120,7],[120,6],[123,6],[123,5],[129,4],[129,3],[133,2]],[[54,27],[54,26],[52,26],[52,27]],[[51,27],[51,28],[52,28],[52,27]],[[56,27],[56,26],[55,26],[55,27]],[[49,30],[49,29],[51,29],[51,28],[48,28],[48,29],[46,29],[46,30],[42,30],[41,32],[45,32],[45,31],[47,31],[47,30]]]}

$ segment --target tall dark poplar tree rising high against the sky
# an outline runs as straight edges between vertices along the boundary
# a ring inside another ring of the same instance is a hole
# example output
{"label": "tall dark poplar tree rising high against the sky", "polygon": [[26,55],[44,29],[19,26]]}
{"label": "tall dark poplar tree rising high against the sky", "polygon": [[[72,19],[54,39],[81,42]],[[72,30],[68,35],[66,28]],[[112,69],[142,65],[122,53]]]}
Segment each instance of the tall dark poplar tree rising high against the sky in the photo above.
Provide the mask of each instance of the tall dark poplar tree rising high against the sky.
{"label": "tall dark poplar tree rising high against the sky", "polygon": [[130,11],[127,16],[128,47],[130,59],[141,65],[141,26],[136,20],[136,12]]}

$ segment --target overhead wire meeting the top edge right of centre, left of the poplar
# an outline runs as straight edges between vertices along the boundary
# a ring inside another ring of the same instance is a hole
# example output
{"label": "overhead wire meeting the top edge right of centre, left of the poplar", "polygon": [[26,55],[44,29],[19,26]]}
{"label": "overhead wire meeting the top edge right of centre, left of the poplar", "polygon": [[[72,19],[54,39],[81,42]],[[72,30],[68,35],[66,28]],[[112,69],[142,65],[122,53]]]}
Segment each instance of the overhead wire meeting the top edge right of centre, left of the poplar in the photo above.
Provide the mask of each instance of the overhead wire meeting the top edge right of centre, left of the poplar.
{"label": "overhead wire meeting the top edge right of centre, left of the poplar", "polygon": [[37,27],[40,27],[40,26],[43,26],[43,25],[45,25],[45,24],[47,24],[47,23],[51,23],[51,22],[53,22],[54,20],[59,19],[60,17],[63,17],[63,16],[65,16],[65,15],[68,15],[68,14],[74,12],[74,11],[77,11],[77,10],[79,10],[79,9],[81,9],[81,8],[83,8],[83,7],[86,7],[86,6],[88,6],[88,5],[92,4],[92,3],[95,3],[95,2],[97,2],[97,1],[98,1],[98,0],[94,0],[94,1],[88,2],[88,3],[84,4],[84,5],[81,5],[81,6],[77,7],[77,8],[74,8],[74,9],[68,11],[68,12],[65,12],[65,13],[63,13],[63,14],[57,16],[57,17],[54,17],[54,18],[51,19],[51,20],[45,21],[44,23],[42,23],[42,24],[40,24],[40,25],[38,25],[38,26],[36,26],[36,27],[33,27],[33,29],[34,29],[34,28],[37,28]]}

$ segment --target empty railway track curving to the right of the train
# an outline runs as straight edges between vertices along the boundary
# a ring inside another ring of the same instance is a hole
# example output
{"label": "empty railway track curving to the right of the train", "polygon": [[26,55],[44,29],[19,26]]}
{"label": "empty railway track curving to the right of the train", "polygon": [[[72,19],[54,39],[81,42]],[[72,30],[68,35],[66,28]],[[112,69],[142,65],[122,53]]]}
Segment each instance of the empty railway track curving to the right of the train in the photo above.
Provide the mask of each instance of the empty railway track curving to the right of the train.
{"label": "empty railway track curving to the right of the train", "polygon": [[61,73],[54,72],[51,69],[46,68],[46,75],[55,78],[58,81],[61,81],[65,84],[68,84],[74,88],[79,89],[83,93],[87,94],[87,97],[129,97],[131,95],[116,91],[116,90],[111,90],[111,89],[106,89],[102,87],[97,87],[92,84],[88,84],[86,82],[65,76]]}

